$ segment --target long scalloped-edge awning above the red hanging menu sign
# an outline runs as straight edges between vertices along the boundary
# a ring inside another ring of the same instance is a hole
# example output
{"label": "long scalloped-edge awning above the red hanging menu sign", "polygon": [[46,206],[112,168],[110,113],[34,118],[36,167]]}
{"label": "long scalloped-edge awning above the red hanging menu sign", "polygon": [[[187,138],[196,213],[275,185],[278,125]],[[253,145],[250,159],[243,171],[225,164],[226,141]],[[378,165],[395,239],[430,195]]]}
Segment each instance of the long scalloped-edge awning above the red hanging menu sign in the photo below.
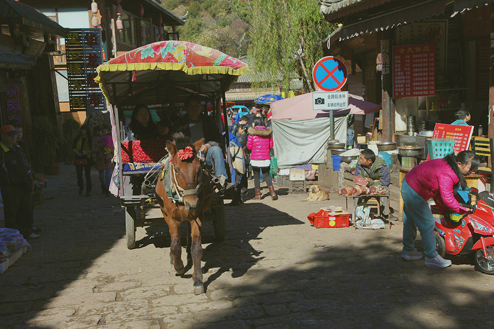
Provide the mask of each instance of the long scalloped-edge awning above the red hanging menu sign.
{"label": "long scalloped-edge awning above the red hanging menu sign", "polygon": [[446,0],[430,0],[402,9],[389,11],[382,15],[362,20],[348,26],[342,26],[339,39],[344,40],[364,34],[371,34],[392,29],[399,25],[410,24],[434,16],[439,16],[444,13],[446,2]]}

